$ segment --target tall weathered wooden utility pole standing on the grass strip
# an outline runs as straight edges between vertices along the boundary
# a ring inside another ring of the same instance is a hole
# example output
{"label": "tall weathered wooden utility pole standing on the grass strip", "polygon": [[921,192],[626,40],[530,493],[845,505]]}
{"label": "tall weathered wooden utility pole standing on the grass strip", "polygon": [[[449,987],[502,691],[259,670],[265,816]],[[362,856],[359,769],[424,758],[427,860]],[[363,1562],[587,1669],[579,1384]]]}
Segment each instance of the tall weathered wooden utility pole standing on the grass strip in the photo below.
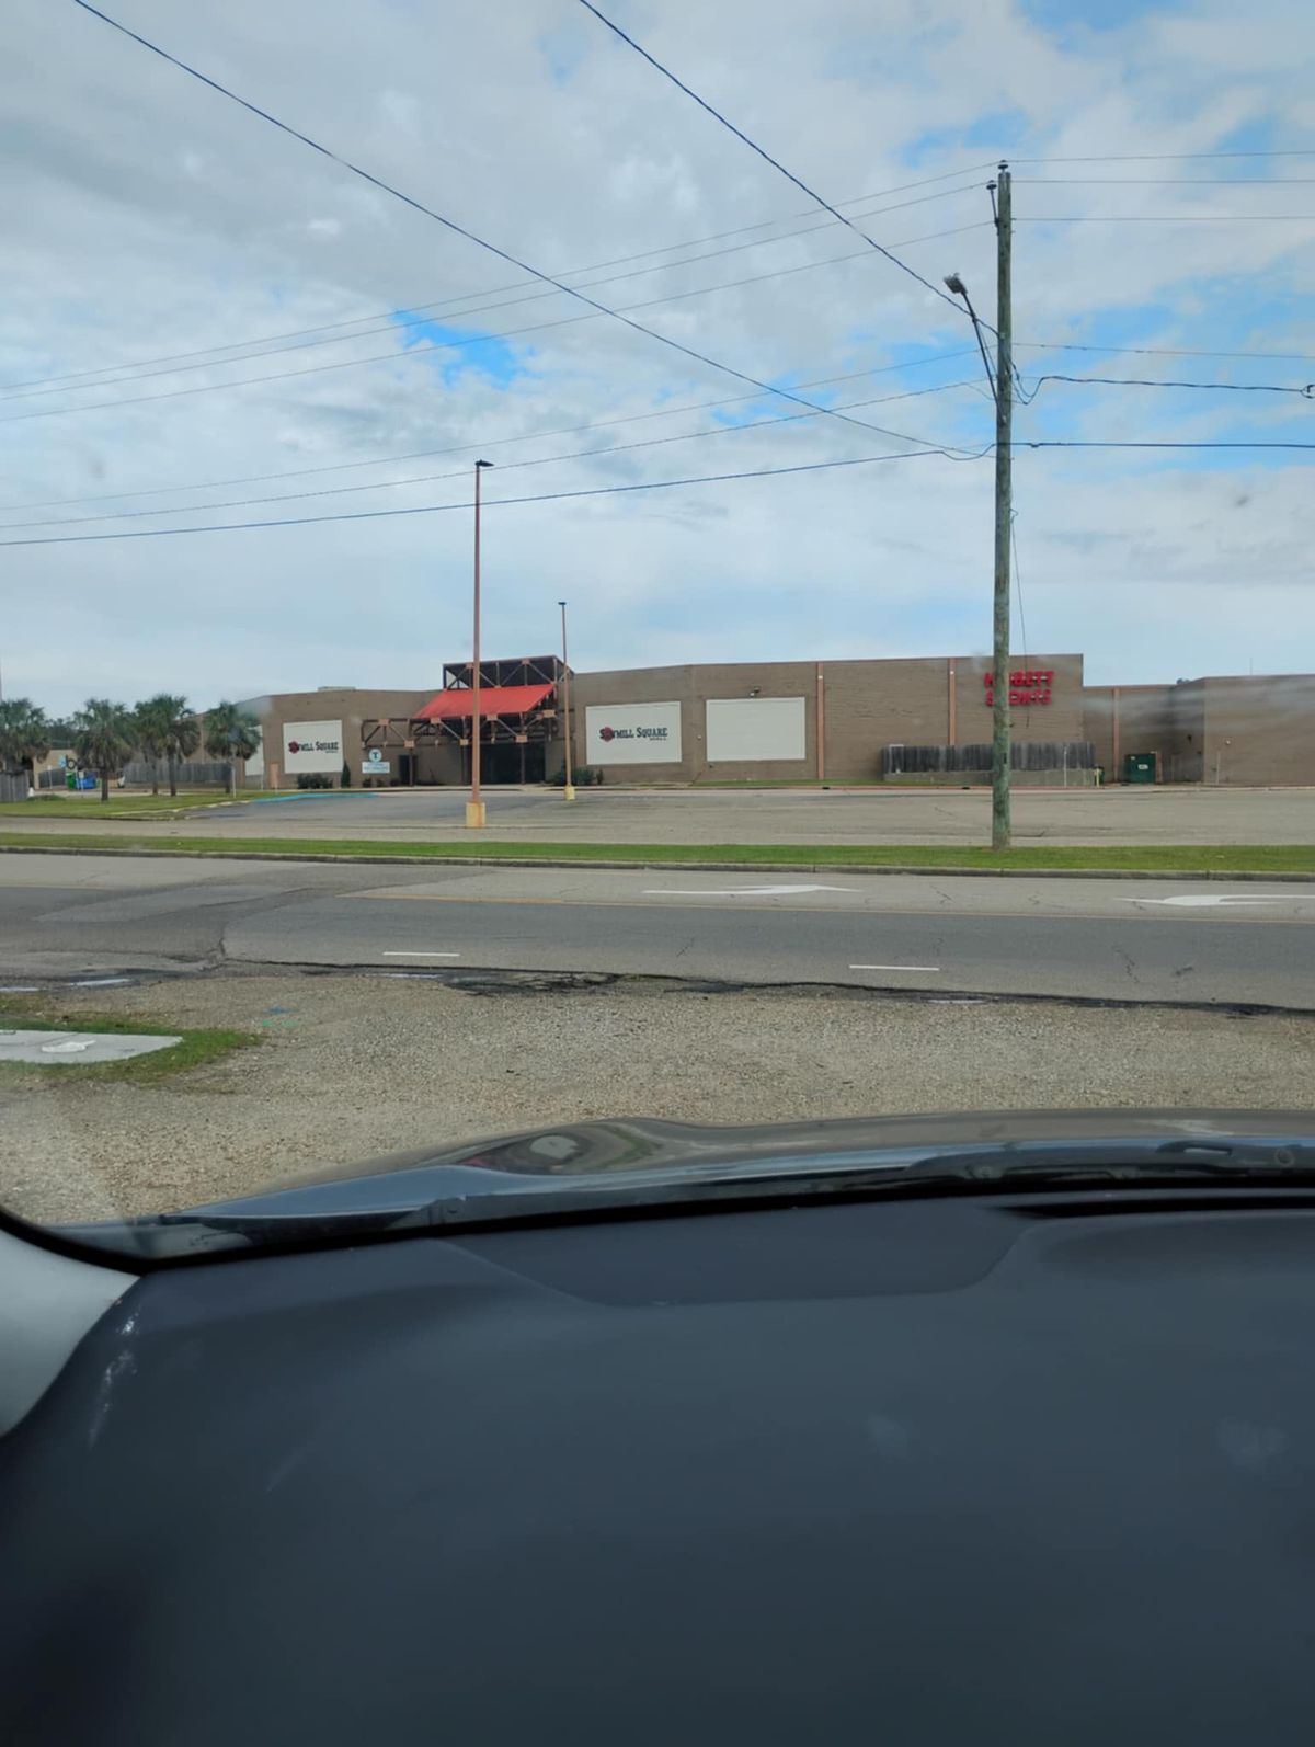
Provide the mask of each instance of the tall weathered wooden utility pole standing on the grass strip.
{"label": "tall weathered wooden utility pole standing on the grass strip", "polygon": [[1009,549],[1013,535],[1013,197],[1009,166],[1001,164],[995,182],[995,608],[992,638],[992,718],[990,718],[990,847],[1008,849],[1013,842],[1009,807],[1011,735],[1009,735]]}

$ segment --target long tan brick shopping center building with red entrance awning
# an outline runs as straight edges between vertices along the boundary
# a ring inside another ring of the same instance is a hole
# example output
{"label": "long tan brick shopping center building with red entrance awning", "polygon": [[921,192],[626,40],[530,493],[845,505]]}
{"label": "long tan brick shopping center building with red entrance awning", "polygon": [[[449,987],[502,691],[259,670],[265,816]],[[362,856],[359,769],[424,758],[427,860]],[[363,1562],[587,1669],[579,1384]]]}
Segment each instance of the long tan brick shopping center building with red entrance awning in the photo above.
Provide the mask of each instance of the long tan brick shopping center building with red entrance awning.
{"label": "long tan brick shopping center building with red entrance awning", "polygon": [[[470,781],[468,662],[435,690],[325,687],[253,699],[264,744],[248,784]],[[1081,655],[1015,657],[1016,781],[1140,779],[1315,784],[1315,674],[1083,683]],[[568,673],[555,655],[480,662],[485,783],[552,781],[573,763],[604,783],[947,784],[988,779],[987,657],[725,662]]]}

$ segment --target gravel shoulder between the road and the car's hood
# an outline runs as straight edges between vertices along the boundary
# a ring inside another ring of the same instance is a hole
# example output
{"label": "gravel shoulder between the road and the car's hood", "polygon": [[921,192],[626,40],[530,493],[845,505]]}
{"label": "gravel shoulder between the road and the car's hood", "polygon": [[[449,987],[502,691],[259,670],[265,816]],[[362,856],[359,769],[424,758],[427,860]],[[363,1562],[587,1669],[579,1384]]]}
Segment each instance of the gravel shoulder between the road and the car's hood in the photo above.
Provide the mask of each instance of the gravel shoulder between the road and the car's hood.
{"label": "gravel shoulder between the road and the car's hood", "polygon": [[608,1116],[1315,1108],[1315,1020],[1186,1010],[627,989],[475,994],[248,975],[63,991],[258,1048],[161,1085],[0,1088],[0,1202],[94,1219],[236,1195],[395,1148]]}

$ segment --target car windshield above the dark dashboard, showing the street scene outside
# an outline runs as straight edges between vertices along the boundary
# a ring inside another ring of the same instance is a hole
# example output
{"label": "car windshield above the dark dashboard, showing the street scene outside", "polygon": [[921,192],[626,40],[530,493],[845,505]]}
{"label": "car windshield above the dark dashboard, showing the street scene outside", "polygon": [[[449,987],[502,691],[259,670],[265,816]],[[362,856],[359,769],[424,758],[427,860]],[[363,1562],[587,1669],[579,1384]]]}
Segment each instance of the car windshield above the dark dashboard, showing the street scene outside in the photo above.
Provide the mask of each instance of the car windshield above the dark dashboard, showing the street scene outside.
{"label": "car windshield above the dark dashboard, showing the street scene outside", "polygon": [[1315,24],[875,14],[9,9],[5,1212],[1306,1158]]}

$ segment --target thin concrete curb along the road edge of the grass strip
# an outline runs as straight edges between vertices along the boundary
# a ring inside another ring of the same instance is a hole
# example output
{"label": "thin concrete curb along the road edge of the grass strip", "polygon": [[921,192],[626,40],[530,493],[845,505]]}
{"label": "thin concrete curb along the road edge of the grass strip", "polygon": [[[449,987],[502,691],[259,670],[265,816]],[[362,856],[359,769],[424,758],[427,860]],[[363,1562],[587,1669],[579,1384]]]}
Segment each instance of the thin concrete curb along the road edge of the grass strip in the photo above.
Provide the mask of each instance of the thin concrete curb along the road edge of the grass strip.
{"label": "thin concrete curb along the road edge of the grass strip", "polygon": [[1261,874],[1221,872],[1217,868],[962,868],[952,865],[899,865],[863,861],[671,861],[561,856],[393,856],[393,854],[323,854],[297,849],[75,849],[51,844],[0,844],[0,854],[9,856],[136,856],[171,861],[325,861],[348,867],[461,867],[461,868],[604,868],[611,872],[669,872],[669,874],[920,874],[938,879],[1139,879],[1139,880],[1222,880],[1226,884],[1257,880],[1266,886],[1312,886],[1315,874]]}

